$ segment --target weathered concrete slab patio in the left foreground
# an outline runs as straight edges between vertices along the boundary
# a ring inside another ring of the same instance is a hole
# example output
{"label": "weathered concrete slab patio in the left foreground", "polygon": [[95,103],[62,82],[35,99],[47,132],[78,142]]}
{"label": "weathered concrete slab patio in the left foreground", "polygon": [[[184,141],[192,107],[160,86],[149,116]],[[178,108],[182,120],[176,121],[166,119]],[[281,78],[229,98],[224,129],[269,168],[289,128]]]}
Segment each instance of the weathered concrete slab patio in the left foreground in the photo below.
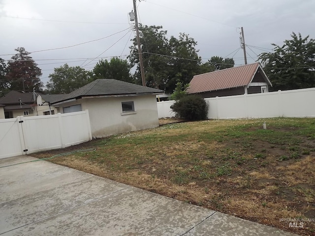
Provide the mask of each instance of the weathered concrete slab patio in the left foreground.
{"label": "weathered concrete slab patio in the left foreground", "polygon": [[293,236],[47,161],[8,166],[31,160],[0,159],[1,236]]}

